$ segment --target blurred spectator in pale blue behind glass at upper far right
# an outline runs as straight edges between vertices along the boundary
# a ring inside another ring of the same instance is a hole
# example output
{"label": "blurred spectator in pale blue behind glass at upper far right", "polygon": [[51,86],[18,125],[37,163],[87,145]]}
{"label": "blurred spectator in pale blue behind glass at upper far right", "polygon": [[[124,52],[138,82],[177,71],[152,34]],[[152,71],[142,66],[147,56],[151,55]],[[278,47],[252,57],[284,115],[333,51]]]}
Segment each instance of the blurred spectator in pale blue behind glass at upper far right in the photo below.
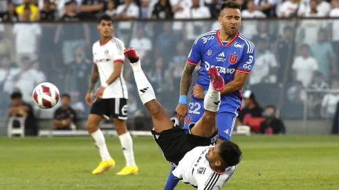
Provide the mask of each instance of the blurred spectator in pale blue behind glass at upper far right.
{"label": "blurred spectator in pale blue behind glass at upper far right", "polygon": [[332,45],[327,41],[326,35],[326,30],[320,28],[318,41],[315,41],[311,46],[311,55],[318,62],[320,72],[329,79],[331,70],[337,70],[337,63],[335,62]]}

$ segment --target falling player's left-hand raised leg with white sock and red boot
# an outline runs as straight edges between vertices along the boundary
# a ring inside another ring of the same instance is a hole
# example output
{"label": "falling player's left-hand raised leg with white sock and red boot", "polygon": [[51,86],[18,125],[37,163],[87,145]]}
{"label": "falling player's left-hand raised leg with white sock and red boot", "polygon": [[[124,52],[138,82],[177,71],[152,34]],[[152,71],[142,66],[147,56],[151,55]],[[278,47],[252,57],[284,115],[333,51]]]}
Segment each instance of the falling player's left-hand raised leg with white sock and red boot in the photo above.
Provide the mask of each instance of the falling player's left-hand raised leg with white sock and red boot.
{"label": "falling player's left-hand raised leg with white sock and red boot", "polygon": [[124,55],[131,62],[134,78],[136,79],[136,86],[138,87],[138,93],[141,102],[145,104],[149,115],[152,117],[154,129],[156,133],[161,131],[172,129],[173,122],[168,117],[165,109],[161,104],[156,101],[156,95],[154,93],[152,85],[147,80],[145,73],[141,69],[139,55],[134,48],[125,50]]}

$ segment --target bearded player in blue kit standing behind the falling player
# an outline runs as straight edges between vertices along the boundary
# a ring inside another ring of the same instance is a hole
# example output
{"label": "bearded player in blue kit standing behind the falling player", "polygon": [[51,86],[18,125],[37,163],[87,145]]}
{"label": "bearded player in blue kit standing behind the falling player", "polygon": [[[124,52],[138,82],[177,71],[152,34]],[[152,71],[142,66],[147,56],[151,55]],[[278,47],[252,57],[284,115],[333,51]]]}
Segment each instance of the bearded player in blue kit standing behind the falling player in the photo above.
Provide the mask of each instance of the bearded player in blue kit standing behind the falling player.
{"label": "bearded player in blue kit standing behind the falling player", "polygon": [[[228,0],[220,8],[218,17],[221,28],[200,35],[194,41],[181,77],[180,98],[176,112],[179,120],[185,119],[184,129],[197,122],[204,113],[203,98],[208,90],[208,70],[216,67],[225,81],[221,91],[221,105],[217,113],[219,139],[211,138],[210,144],[230,140],[235,119],[241,109],[241,88],[255,64],[255,46],[239,32],[241,23],[240,4]],[[192,73],[200,62],[199,77],[194,82],[191,102],[187,108],[187,93],[192,83]],[[207,144],[206,144],[207,145]],[[174,189],[178,180],[168,176],[165,190]]]}

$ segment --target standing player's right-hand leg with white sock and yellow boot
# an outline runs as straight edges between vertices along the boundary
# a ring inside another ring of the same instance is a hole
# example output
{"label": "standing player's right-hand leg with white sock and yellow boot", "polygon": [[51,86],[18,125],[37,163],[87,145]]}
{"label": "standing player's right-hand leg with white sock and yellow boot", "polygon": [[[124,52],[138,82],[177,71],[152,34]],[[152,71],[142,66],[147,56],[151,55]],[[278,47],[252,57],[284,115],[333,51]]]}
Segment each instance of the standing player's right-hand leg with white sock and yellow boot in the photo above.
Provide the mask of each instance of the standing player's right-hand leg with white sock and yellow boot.
{"label": "standing player's right-hand leg with white sock and yellow boot", "polygon": [[116,173],[117,175],[136,175],[138,174],[138,167],[134,160],[133,140],[131,134],[127,131],[127,120],[120,120],[113,118],[114,125],[116,126],[116,133],[118,133],[122,152],[125,155],[126,167]]}

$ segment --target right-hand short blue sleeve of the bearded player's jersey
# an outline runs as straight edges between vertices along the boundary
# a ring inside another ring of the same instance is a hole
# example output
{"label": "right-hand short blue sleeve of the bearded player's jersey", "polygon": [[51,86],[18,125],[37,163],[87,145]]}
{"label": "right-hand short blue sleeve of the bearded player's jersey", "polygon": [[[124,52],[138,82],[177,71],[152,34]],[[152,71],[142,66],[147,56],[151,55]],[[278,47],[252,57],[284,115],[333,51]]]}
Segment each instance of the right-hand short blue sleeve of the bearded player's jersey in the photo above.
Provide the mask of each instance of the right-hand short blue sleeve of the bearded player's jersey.
{"label": "right-hand short blue sleeve of the bearded player's jersey", "polygon": [[[246,48],[244,48],[236,70],[241,73],[249,74],[255,64],[255,46],[250,41],[246,41],[246,44]],[[236,59],[237,55],[230,54],[230,63]]]}

